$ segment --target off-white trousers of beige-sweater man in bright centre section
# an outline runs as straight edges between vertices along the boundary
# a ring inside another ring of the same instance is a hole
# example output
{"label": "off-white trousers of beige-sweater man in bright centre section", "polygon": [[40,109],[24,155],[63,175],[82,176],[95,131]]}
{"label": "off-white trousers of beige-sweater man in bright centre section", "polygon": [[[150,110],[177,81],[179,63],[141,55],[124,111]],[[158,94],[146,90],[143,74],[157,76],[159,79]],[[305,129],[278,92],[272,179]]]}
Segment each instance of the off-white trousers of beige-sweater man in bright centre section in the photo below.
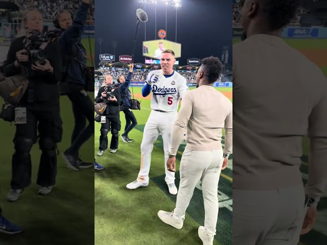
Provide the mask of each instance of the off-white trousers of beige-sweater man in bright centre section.
{"label": "off-white trousers of beige-sweater man in bright centre section", "polygon": [[184,218],[196,184],[201,180],[204,200],[204,228],[215,235],[218,219],[218,182],[223,150],[198,152],[185,149],[180,162],[180,183],[174,216]]}

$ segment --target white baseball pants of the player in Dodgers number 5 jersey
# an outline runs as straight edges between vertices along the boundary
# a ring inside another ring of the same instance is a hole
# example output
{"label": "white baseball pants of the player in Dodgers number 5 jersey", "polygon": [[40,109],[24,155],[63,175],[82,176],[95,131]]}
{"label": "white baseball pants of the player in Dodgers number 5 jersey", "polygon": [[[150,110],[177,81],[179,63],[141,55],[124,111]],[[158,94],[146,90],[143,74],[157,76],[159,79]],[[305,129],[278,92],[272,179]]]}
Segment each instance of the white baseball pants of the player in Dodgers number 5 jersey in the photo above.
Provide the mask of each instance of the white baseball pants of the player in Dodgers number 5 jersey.
{"label": "white baseball pants of the player in Dodgers number 5 jersey", "polygon": [[164,168],[166,173],[165,181],[167,184],[175,183],[175,173],[167,170],[166,164],[169,158],[171,148],[172,127],[177,117],[176,112],[159,112],[151,111],[149,119],[145,125],[143,139],[141,143],[141,168],[137,180],[142,183],[149,182],[149,172],[151,164],[151,153],[153,143],[161,135],[164,141],[165,162]]}

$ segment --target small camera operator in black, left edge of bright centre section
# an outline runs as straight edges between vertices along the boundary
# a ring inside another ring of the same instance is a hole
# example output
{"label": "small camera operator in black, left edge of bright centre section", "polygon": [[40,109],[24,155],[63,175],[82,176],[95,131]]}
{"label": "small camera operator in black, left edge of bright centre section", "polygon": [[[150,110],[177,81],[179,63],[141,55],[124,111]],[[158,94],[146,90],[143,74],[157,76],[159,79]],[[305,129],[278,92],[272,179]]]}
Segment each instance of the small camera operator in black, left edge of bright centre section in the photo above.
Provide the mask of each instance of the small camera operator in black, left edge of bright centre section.
{"label": "small camera operator in black, left edge of bright centre section", "polygon": [[[104,79],[106,85],[101,87],[96,97],[96,103],[106,102],[106,111],[101,116],[105,122],[101,123],[100,146],[98,156],[102,156],[103,152],[108,149],[108,132],[111,129],[111,153],[115,153],[118,149],[118,132],[121,130],[121,120],[119,117],[119,106],[121,104],[121,94],[117,87],[112,84],[111,75],[106,75]],[[110,92],[113,96],[109,96]]]}

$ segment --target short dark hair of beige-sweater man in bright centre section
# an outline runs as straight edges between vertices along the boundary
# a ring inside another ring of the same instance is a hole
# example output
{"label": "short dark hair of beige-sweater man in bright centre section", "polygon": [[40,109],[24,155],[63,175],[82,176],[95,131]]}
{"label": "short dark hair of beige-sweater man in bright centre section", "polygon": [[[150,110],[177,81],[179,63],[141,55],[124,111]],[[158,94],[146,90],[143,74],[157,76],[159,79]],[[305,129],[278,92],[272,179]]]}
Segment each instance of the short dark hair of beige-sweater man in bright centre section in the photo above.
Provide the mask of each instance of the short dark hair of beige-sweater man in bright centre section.
{"label": "short dark hair of beige-sweater man in bright centre section", "polygon": [[209,80],[209,83],[216,82],[223,69],[223,64],[217,57],[207,57],[202,59],[202,65],[204,66],[203,72]]}

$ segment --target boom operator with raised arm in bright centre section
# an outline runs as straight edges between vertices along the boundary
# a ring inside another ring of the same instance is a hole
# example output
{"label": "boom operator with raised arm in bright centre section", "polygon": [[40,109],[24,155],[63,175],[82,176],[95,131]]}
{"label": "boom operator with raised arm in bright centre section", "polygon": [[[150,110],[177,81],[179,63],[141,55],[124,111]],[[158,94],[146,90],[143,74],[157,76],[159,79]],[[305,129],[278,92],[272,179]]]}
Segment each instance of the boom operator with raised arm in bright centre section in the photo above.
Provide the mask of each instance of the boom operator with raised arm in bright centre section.
{"label": "boom operator with raised arm in bright centre section", "polygon": [[131,91],[129,90],[129,83],[132,78],[133,67],[134,64],[131,64],[126,80],[124,75],[118,77],[118,82],[121,84],[119,88],[119,91],[121,92],[121,107],[126,119],[125,132],[121,136],[125,143],[134,141],[133,139],[128,138],[128,133],[137,125],[136,118],[131,110]]}

